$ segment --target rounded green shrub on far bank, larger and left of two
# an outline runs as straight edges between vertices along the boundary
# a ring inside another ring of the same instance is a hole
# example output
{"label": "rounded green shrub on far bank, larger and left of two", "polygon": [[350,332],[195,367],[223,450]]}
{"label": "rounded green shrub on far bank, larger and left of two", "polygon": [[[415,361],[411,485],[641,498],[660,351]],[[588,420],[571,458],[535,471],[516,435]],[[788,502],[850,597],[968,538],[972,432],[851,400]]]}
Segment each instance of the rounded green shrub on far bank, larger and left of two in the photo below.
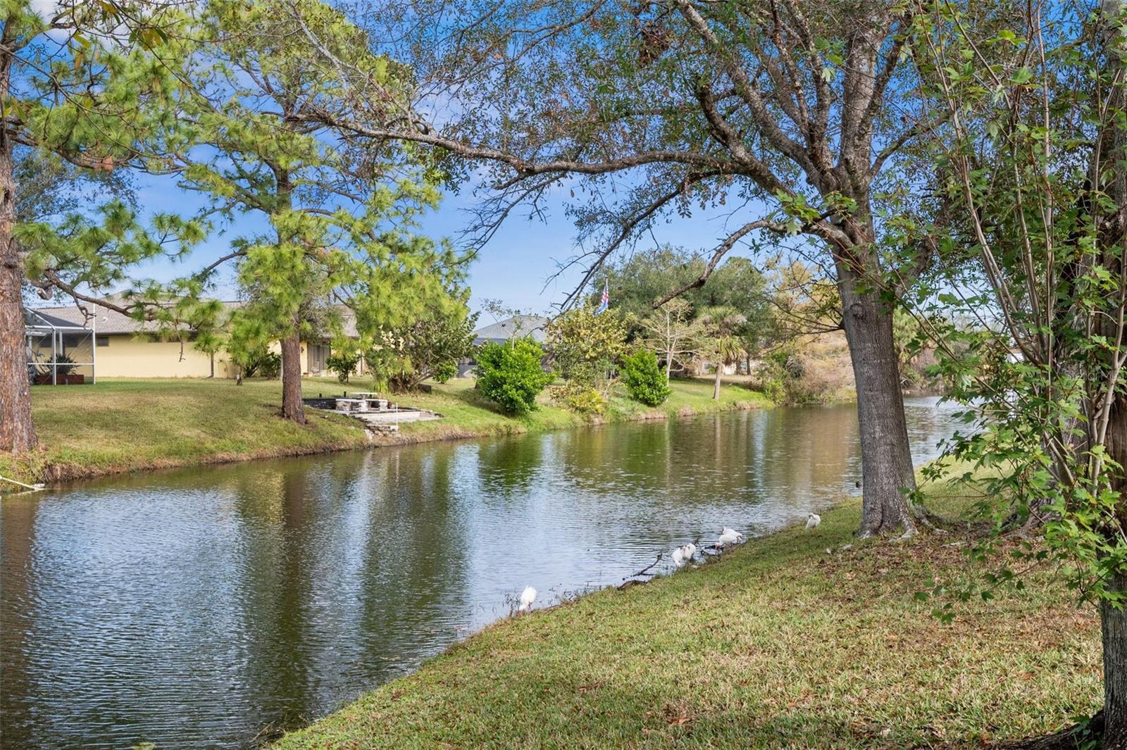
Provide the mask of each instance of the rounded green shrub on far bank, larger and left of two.
{"label": "rounded green shrub on far bank, larger and left of two", "polygon": [[536,395],[552,382],[540,364],[543,354],[531,338],[485,343],[477,356],[478,389],[508,413],[533,411]]}

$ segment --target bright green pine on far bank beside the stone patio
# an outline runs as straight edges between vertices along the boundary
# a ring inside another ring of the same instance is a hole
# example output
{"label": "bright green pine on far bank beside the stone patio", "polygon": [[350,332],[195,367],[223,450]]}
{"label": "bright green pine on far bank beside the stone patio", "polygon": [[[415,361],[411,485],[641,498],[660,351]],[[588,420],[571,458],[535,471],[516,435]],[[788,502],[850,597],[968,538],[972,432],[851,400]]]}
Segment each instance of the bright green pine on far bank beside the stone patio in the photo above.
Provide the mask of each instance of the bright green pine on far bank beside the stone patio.
{"label": "bright green pine on far bank beside the stone patio", "polygon": [[[286,419],[304,421],[301,341],[339,337],[343,305],[362,338],[435,307],[461,264],[446,244],[419,236],[416,217],[440,198],[438,173],[410,149],[350,150],[316,117],[349,96],[347,83],[312,47],[347,54],[393,91],[407,71],[366,53],[363,32],[316,0],[216,0],[189,21],[179,102],[189,124],[174,169],[207,194],[218,215],[265,218],[196,276],[228,262],[250,303],[236,313],[236,349],[278,341]],[[316,29],[316,37],[313,36]],[[314,327],[314,320],[321,322]],[[316,330],[316,328],[328,329]]]}

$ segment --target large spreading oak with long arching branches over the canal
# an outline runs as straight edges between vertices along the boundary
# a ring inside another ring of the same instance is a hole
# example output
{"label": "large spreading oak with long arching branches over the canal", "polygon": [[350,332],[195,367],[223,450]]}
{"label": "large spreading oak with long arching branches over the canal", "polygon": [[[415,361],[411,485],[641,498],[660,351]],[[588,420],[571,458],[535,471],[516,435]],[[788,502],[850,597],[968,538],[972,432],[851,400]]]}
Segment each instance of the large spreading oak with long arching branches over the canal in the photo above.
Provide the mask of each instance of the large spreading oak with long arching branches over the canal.
{"label": "large spreading oak with long arching branches over the canal", "polygon": [[[365,25],[410,63],[411,106],[332,116],[357,139],[431,145],[455,176],[483,175],[482,241],[517,206],[535,213],[550,191],[577,193],[569,211],[586,273],[573,300],[620,248],[701,208],[729,206],[729,223],[686,286],[704,284],[739,243],[807,238],[837,285],[853,360],[860,533],[912,532],[891,302],[930,261],[934,238],[890,217],[917,184],[903,148],[943,117],[906,96],[917,12],[871,0],[382,8]],[[354,80],[367,99],[385,98]]]}

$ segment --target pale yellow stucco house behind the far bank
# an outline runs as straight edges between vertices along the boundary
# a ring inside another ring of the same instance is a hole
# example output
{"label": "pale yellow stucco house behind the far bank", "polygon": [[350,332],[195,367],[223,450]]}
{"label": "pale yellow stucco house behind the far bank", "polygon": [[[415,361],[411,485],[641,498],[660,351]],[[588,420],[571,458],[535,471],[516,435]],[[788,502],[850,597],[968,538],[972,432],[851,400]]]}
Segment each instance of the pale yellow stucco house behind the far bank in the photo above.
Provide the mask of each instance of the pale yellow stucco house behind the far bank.
{"label": "pale yellow stucco house behind the far bank", "polygon": [[[240,303],[224,302],[233,310]],[[59,354],[66,355],[76,363],[91,363],[77,372],[91,370],[97,377],[236,377],[237,367],[225,351],[208,355],[192,346],[192,341],[160,340],[148,333],[151,324],[133,320],[127,315],[83,303],[92,311],[88,316],[77,305],[59,307],[35,307],[28,311],[29,324],[43,320],[59,333],[54,346]],[[346,331],[349,325],[346,319]],[[350,331],[355,334],[355,330]],[[91,339],[94,347],[91,350]],[[50,358],[50,339],[29,337],[29,354],[33,358]],[[277,345],[274,345],[275,349]],[[330,354],[328,342],[303,341],[301,345],[301,368],[303,375],[328,375],[326,360]],[[90,380],[90,376],[87,376]]]}

